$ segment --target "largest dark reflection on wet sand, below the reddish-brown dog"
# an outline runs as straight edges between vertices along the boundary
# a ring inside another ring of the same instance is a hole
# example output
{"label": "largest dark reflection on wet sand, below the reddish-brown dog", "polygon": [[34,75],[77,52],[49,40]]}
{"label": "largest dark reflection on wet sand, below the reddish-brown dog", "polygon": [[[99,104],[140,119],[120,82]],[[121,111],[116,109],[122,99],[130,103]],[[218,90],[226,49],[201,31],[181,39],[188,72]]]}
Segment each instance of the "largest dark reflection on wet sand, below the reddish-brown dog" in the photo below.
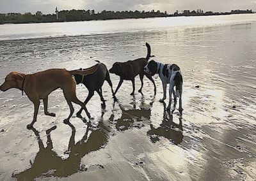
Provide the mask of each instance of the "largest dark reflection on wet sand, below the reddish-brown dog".
{"label": "largest dark reflection on wet sand, below the reddish-brown dog", "polygon": [[[39,152],[36,154],[35,161],[33,163],[30,162],[31,168],[20,173],[15,173],[13,177],[18,180],[33,180],[37,177],[68,177],[78,171],[86,171],[86,166],[81,166],[81,159],[86,154],[99,150],[106,145],[109,138],[109,130],[101,121],[99,122],[97,130],[92,129],[92,126],[88,123],[83,138],[76,143],[76,128],[70,122],[68,122],[67,125],[72,129],[68,150],[65,152],[65,154],[68,154],[67,159],[61,159],[61,157],[52,150],[51,131],[56,129],[56,126],[46,131],[46,147],[44,147],[39,132],[32,127],[31,130],[35,133],[38,141]],[[91,132],[90,136],[88,136],[89,131]]]}

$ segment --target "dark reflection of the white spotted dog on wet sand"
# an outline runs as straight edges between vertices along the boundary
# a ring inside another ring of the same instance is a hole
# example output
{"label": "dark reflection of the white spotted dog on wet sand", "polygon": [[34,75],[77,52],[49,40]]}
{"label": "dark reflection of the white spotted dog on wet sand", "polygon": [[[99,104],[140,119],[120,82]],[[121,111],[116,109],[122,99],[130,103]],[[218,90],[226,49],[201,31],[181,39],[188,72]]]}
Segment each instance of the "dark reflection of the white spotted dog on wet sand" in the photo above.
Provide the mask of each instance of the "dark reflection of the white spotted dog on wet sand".
{"label": "dark reflection of the white spotted dog on wet sand", "polygon": [[159,141],[161,136],[172,141],[175,145],[178,145],[183,140],[183,128],[182,128],[182,117],[179,117],[179,124],[173,122],[173,114],[166,111],[166,104],[164,105],[163,122],[159,127],[154,127],[150,124],[150,130],[147,135],[150,136],[150,140],[153,143]]}

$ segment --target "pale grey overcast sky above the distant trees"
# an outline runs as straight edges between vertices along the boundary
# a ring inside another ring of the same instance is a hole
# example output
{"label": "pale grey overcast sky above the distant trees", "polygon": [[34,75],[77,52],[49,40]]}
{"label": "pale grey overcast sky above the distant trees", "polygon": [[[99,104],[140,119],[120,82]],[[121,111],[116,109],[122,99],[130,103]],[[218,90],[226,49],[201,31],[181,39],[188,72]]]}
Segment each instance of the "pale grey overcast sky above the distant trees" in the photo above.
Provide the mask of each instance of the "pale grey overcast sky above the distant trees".
{"label": "pale grey overcast sky above the distant trees", "polygon": [[0,0],[0,13],[19,12],[54,13],[58,10],[160,10],[174,13],[176,10],[230,11],[256,10],[256,0]]}

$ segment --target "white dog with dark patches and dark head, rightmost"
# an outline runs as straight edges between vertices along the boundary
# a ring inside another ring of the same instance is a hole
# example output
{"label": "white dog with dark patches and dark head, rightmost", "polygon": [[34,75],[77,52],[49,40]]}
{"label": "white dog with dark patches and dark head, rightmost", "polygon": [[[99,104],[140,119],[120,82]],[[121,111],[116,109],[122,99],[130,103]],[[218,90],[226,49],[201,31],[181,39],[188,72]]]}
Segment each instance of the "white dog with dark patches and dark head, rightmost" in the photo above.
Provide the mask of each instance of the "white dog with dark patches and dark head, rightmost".
{"label": "white dog with dark patches and dark head, rightmost", "polygon": [[[179,110],[182,111],[182,84],[183,84],[183,78],[181,75],[181,71],[179,66],[177,64],[163,64],[161,62],[156,61],[149,61],[147,66],[144,68],[145,73],[149,73],[151,76],[154,76],[156,74],[159,75],[159,77],[162,80],[163,83],[163,90],[164,90],[164,96],[163,99],[160,99],[160,102],[163,102],[166,99],[166,85],[167,83],[170,83],[169,87],[169,105],[167,106],[167,110],[170,110],[171,104],[172,104],[172,93],[174,97],[174,101],[177,101],[177,98],[179,98]],[[173,89],[174,86],[176,87],[176,92]]]}

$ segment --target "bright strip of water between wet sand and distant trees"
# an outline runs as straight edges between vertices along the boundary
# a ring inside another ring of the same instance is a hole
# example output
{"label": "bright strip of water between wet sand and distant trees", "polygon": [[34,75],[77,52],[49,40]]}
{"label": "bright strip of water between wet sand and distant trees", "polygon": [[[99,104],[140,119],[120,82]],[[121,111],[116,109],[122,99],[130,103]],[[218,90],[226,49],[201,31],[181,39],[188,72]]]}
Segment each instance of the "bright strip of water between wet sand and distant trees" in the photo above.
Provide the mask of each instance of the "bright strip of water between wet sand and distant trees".
{"label": "bright strip of water between wet sand and distant trees", "polygon": [[[221,20],[223,20],[223,17],[220,17]],[[204,17],[188,17],[191,20],[196,20],[196,22],[201,22],[203,21],[207,21],[209,23],[206,24],[175,24],[175,22],[180,22],[187,19],[187,17],[175,17],[172,18],[170,20],[166,19],[166,18],[147,18],[147,20],[141,20],[141,19],[137,19],[137,20],[132,20],[132,19],[123,19],[123,20],[111,20],[108,23],[104,21],[90,21],[90,22],[63,22],[62,24],[52,24],[52,23],[45,23],[44,27],[53,27],[53,29],[51,29],[51,31],[42,31],[39,34],[31,34],[31,32],[29,31],[24,31],[24,32],[20,32],[20,36],[18,37],[17,34],[19,34],[19,32],[17,31],[8,31],[8,29],[31,29],[31,27],[33,26],[35,29],[38,29],[42,26],[42,24],[4,24],[3,27],[3,31],[4,29],[6,29],[6,32],[8,32],[7,34],[3,33],[0,34],[0,42],[10,42],[10,41],[29,41],[29,40],[47,40],[47,39],[52,39],[52,38],[86,38],[88,36],[111,36],[113,34],[122,34],[122,33],[131,33],[131,31],[133,33],[154,33],[154,32],[161,32],[161,31],[174,31],[176,28],[181,28],[181,29],[190,29],[190,28],[202,28],[202,27],[216,27],[216,26],[227,26],[227,25],[236,25],[236,24],[254,24],[256,22],[256,19],[254,18],[255,15],[252,15],[250,17],[251,20],[245,20],[244,18],[248,17],[248,15],[237,15],[231,17],[230,16],[230,20],[227,20],[225,22],[221,22],[220,24],[216,24],[215,22],[212,22],[212,20],[218,20],[217,17],[209,17],[209,18],[204,18]],[[226,19],[226,18],[224,18]],[[191,22],[191,20],[189,20],[189,22]],[[234,20],[236,20],[234,22]],[[188,20],[187,20],[188,21]],[[160,22],[161,24],[166,24],[166,22],[170,22],[170,25],[164,25],[164,27],[162,27],[161,29],[156,29],[154,27],[152,27],[152,25],[150,25],[147,29],[143,28],[143,24],[148,24],[148,22],[150,24],[154,23],[154,22]],[[124,24],[142,24],[140,29],[137,30],[127,30],[127,29],[116,29],[118,28],[118,26],[120,23],[124,23]],[[106,24],[111,24],[113,25],[114,29],[100,29],[99,31],[92,31],[91,29],[94,26],[99,26],[101,25],[106,25]],[[88,28],[86,28],[84,31],[63,31],[60,33],[54,33],[54,31],[56,31],[56,29],[60,28],[60,27],[86,27],[89,26]]]}

